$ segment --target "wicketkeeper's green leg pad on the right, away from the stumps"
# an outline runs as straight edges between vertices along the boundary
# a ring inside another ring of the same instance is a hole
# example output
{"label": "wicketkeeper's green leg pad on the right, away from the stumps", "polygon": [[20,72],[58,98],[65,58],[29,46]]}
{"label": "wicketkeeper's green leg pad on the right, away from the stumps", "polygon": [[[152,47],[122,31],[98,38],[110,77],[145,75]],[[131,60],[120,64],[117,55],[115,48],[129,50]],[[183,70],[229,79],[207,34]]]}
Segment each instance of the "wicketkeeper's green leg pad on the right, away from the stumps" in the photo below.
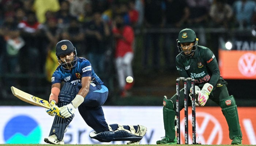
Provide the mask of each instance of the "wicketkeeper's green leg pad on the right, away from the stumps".
{"label": "wicketkeeper's green leg pad on the right, away from the stumps", "polygon": [[229,126],[229,138],[241,137],[242,132],[239,124],[237,105],[234,96],[231,95],[220,101],[222,113],[226,118],[227,125]]}

